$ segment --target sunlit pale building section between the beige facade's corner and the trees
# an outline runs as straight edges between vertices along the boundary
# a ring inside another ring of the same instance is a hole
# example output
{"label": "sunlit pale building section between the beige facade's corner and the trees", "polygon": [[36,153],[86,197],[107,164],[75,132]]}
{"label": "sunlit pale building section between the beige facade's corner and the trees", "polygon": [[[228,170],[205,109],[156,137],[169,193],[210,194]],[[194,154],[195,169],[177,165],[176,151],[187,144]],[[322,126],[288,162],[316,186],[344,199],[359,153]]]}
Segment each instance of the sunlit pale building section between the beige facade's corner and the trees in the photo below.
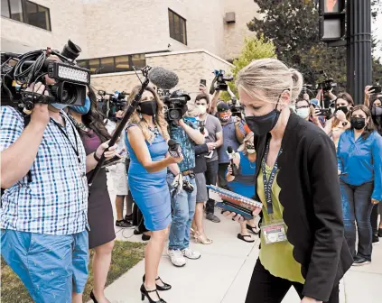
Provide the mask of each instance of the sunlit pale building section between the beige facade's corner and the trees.
{"label": "sunlit pale building section between the beige facade's corner and the trees", "polygon": [[224,43],[225,52],[223,58],[233,60],[238,58],[238,54],[244,46],[244,38],[254,36],[254,32],[250,32],[247,23],[255,16],[261,18],[257,14],[258,5],[253,0],[224,0],[225,13],[235,12],[236,23],[225,23],[224,25]]}

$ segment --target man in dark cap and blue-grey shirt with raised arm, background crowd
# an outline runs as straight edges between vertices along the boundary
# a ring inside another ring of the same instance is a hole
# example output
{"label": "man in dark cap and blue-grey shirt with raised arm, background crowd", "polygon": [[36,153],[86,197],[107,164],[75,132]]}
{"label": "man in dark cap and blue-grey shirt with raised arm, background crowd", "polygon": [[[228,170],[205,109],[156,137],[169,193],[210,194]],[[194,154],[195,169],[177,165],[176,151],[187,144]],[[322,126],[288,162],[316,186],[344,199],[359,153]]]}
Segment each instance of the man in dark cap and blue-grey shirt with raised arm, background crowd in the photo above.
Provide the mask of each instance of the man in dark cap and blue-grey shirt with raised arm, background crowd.
{"label": "man in dark cap and blue-grey shirt with raised arm, background crowd", "polygon": [[229,165],[229,156],[227,153],[228,146],[231,146],[233,151],[237,151],[245,137],[244,125],[241,118],[232,116],[231,110],[227,103],[221,101],[218,105],[218,117],[223,129],[223,144],[218,149],[219,154],[219,171],[218,183],[220,188],[227,187],[226,170]]}

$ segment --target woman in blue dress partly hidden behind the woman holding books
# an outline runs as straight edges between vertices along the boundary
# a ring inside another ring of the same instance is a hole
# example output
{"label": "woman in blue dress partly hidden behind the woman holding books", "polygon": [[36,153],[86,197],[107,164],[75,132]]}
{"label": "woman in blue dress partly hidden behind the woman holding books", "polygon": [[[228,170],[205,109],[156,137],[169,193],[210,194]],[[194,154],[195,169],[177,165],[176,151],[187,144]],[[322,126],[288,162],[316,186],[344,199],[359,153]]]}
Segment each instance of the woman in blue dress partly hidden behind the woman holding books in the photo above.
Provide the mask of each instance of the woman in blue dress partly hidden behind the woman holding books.
{"label": "woman in blue dress partly hidden behind the woman holding books", "polygon": [[[234,163],[238,167],[238,175],[232,176],[232,167],[228,166],[227,181],[229,190],[236,192],[244,197],[255,196],[255,178],[256,178],[256,151],[254,142],[254,133],[248,133],[243,144],[238,148],[238,153],[234,158]],[[241,231],[238,239],[248,243],[253,243],[251,235],[259,233],[258,218],[249,221],[241,221]]]}

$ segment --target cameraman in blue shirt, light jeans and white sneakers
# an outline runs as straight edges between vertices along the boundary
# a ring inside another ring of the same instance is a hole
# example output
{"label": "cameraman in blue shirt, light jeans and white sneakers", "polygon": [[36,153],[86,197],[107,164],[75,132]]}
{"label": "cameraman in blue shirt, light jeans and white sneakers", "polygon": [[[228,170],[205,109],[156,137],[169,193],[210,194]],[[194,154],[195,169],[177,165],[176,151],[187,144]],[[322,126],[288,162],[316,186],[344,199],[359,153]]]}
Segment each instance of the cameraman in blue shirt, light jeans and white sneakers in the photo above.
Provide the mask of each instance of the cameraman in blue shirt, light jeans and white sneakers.
{"label": "cameraman in blue shirt, light jeans and white sneakers", "polygon": [[[190,100],[190,96],[182,90],[174,91],[170,96],[170,100],[181,98]],[[183,104],[182,115],[186,112],[187,104]],[[167,115],[170,116],[169,113]],[[205,142],[204,135],[200,133],[198,126],[190,120],[186,123],[182,118],[169,121],[170,138],[180,144],[183,152],[183,160],[178,163],[180,175],[174,176],[170,170],[167,173],[167,183],[170,192],[172,192],[172,225],[170,227],[168,255],[176,267],[184,266],[186,264],[185,258],[196,260],[201,256],[200,253],[193,251],[190,247],[190,232],[195,215],[197,191],[195,173],[193,172],[195,168],[194,145]],[[176,188],[175,183],[180,179],[182,181],[178,183],[178,188]]]}

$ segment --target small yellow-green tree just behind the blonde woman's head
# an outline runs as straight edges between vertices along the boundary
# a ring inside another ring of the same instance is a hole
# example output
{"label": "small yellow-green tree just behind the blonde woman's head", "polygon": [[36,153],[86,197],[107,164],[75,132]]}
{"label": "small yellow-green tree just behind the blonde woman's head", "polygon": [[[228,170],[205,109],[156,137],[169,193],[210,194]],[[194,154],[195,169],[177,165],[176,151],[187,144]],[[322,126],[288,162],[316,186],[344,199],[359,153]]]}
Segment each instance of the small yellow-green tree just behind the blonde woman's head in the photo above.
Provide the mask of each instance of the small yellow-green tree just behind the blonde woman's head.
{"label": "small yellow-green tree just behind the blonde woman's head", "polygon": [[[265,41],[263,36],[246,37],[244,38],[244,47],[241,50],[238,59],[233,61],[234,68],[231,69],[234,79],[236,79],[240,69],[246,67],[250,62],[262,58],[275,58],[275,45],[272,41]],[[234,81],[228,82],[229,87],[235,95],[238,95],[238,90]],[[230,96],[228,93],[223,93],[221,99],[228,101]]]}

